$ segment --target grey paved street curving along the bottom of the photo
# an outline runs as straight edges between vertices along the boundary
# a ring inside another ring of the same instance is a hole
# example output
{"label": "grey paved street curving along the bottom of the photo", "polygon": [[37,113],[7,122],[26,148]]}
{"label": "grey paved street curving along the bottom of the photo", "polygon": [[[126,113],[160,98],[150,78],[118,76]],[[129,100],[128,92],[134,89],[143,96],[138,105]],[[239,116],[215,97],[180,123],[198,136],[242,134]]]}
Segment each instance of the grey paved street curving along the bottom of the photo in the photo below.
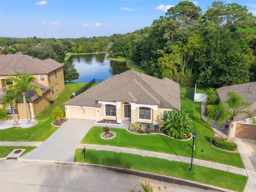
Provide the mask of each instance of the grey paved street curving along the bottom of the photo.
{"label": "grey paved street curving along the bottom of the photo", "polygon": [[165,191],[205,191],[203,189],[173,185],[134,175],[117,173],[99,167],[25,163],[14,160],[0,162],[0,191],[127,191],[139,189],[140,183],[149,181]]}

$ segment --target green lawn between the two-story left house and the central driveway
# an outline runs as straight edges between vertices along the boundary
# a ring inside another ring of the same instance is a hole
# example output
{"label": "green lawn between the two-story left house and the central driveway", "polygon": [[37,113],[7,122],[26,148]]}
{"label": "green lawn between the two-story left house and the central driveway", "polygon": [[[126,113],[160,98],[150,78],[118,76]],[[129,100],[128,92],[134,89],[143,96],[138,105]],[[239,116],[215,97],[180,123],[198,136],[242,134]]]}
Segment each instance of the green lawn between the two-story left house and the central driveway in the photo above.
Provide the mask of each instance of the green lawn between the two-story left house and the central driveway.
{"label": "green lawn between the two-story left house and the central driveway", "polygon": [[37,116],[38,123],[27,129],[12,127],[10,129],[0,130],[0,141],[44,141],[58,129],[52,126],[53,119],[51,117],[51,110],[54,107],[62,107],[63,102],[70,99],[73,92],[81,89],[86,83],[67,83],[65,89],[55,99],[55,103],[50,104],[44,108]]}

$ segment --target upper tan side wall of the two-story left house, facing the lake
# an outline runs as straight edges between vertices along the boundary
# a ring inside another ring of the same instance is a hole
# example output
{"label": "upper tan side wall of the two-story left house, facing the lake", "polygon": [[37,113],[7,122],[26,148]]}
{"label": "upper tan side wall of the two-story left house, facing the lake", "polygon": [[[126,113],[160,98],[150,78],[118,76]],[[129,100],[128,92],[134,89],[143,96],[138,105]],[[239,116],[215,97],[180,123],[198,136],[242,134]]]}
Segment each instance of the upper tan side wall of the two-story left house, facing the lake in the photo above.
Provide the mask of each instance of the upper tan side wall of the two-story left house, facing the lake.
{"label": "upper tan side wall of the two-story left house, facing the lake", "polygon": [[[57,69],[56,73],[57,73],[57,77],[55,77],[55,72],[54,71],[52,71],[49,74],[50,82],[49,82],[49,85],[47,85],[47,86],[50,87],[50,89],[51,89],[51,93],[50,93],[50,98],[51,99],[54,99],[65,87],[63,67]],[[47,81],[48,81],[48,79],[47,79]],[[55,89],[55,84],[57,84],[57,90]],[[52,94],[52,87],[54,89],[54,94]]]}

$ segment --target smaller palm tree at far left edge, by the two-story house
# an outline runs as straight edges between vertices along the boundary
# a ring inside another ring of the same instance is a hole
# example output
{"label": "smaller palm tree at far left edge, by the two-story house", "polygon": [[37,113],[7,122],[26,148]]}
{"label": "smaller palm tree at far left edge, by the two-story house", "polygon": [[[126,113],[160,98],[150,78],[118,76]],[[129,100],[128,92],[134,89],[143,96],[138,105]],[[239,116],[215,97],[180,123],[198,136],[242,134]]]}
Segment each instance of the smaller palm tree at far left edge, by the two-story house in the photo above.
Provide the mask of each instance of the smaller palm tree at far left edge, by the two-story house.
{"label": "smaller palm tree at far left edge, by the two-story house", "polygon": [[13,117],[13,125],[17,124],[16,117],[15,117],[15,111],[14,106],[17,105],[17,101],[22,99],[21,93],[14,93],[11,91],[7,91],[6,94],[3,97],[4,105],[10,105],[12,110],[12,117]]}

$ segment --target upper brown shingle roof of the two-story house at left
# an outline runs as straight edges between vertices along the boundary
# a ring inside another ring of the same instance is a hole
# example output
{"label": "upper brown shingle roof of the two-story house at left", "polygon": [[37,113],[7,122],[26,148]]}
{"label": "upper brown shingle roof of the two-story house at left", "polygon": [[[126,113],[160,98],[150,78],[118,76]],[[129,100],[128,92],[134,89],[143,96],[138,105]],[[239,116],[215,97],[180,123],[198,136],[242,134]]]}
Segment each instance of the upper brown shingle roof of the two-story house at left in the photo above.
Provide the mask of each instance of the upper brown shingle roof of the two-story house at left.
{"label": "upper brown shingle roof of the two-story house at left", "polygon": [[61,63],[52,59],[41,60],[19,54],[0,55],[0,75],[15,75],[18,71],[23,74],[49,74],[60,67]]}

